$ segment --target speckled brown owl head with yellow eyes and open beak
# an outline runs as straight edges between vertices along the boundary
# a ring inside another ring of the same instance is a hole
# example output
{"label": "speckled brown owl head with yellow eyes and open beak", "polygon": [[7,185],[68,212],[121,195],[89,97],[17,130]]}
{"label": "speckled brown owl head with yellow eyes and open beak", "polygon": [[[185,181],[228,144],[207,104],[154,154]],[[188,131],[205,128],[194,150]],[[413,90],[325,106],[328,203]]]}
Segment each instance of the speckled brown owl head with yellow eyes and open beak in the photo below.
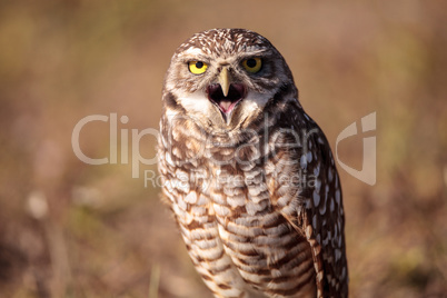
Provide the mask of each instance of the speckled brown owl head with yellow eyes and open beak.
{"label": "speckled brown owl head with yellow eyes and open beak", "polygon": [[212,29],[175,52],[165,78],[165,109],[205,129],[240,129],[285,86],[296,92],[286,61],[266,38],[245,29]]}

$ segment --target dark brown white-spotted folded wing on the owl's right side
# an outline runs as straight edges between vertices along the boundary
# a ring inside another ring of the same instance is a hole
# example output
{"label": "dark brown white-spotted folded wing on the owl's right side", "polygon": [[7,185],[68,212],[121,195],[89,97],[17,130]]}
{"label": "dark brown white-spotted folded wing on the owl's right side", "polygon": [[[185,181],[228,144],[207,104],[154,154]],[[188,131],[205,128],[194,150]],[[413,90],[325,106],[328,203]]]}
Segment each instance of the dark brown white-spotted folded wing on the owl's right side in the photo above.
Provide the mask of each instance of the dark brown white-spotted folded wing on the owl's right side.
{"label": "dark brown white-spotted folded wing on the owl's right side", "polygon": [[299,156],[301,188],[298,210],[282,216],[311,247],[318,297],[347,297],[348,268],[345,252],[345,217],[341,187],[329,143],[309,118],[308,138]]}

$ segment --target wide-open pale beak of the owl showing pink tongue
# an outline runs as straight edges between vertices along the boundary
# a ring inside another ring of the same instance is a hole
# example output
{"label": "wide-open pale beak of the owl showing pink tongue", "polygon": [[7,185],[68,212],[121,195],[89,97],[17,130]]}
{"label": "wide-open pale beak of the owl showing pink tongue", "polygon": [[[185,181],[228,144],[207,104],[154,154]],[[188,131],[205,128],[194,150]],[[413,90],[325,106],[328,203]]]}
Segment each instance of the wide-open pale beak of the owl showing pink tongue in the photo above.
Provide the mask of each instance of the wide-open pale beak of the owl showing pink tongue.
{"label": "wide-open pale beak of the owl showing pink tongue", "polygon": [[208,99],[220,109],[226,122],[229,123],[231,111],[246,97],[246,87],[232,82],[228,67],[222,67],[220,70],[218,82],[208,86]]}

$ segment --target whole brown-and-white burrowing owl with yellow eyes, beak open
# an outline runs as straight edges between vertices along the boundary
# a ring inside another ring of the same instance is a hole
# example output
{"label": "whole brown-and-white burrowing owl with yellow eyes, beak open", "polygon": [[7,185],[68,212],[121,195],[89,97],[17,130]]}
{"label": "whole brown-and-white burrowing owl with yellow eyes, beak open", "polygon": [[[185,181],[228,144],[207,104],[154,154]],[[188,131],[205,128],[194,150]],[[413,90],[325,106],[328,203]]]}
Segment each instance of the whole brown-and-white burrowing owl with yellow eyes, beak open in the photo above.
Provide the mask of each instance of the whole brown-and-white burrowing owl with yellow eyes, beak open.
{"label": "whole brown-and-white burrowing owl with yellow eyes, beak open", "polygon": [[347,297],[337,169],[278,50],[244,29],[196,33],[162,101],[163,193],[215,297]]}

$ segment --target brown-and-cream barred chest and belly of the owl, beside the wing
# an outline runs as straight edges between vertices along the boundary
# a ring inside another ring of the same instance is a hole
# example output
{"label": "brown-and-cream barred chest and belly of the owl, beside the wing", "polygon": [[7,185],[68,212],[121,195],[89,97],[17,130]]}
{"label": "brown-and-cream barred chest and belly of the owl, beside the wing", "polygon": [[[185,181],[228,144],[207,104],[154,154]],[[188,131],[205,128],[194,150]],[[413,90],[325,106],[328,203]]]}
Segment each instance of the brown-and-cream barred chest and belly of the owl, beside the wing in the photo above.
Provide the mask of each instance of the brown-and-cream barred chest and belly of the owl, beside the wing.
{"label": "brown-and-cream barred chest and belly of the owl, beside the wing", "polygon": [[272,280],[278,287],[298,287],[295,277],[312,267],[301,261],[310,256],[306,239],[278,208],[296,207],[296,191],[278,185],[277,171],[287,170],[278,159],[236,162],[229,152],[181,165],[166,153],[172,165],[165,161],[165,192],[196,268],[205,280],[212,277],[207,281],[211,288],[228,280],[238,280],[240,289],[248,284],[266,290]]}

